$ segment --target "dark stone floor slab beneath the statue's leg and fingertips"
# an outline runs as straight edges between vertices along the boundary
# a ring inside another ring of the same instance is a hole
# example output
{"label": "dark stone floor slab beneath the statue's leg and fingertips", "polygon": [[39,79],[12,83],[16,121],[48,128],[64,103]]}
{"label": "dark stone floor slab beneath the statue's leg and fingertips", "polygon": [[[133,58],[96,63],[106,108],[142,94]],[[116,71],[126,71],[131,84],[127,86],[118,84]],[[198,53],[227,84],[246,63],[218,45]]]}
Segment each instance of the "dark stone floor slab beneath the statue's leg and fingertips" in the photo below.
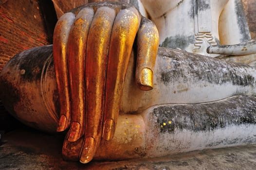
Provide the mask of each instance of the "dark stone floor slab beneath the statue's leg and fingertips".
{"label": "dark stone floor slab beneath the statue's leg and fingertips", "polygon": [[22,127],[3,136],[0,170],[255,170],[256,144],[152,159],[81,164],[61,158],[63,136]]}

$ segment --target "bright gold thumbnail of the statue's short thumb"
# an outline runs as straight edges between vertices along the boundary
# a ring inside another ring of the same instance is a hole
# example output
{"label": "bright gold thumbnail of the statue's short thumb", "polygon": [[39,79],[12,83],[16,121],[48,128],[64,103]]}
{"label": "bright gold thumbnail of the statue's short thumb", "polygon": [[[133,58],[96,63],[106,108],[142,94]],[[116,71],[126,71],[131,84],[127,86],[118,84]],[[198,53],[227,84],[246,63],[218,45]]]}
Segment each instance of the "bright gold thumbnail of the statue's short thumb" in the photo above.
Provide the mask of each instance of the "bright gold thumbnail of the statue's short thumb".
{"label": "bright gold thumbnail of the statue's short thumb", "polygon": [[142,90],[151,90],[153,88],[153,72],[149,68],[143,68],[141,71],[141,85]]}

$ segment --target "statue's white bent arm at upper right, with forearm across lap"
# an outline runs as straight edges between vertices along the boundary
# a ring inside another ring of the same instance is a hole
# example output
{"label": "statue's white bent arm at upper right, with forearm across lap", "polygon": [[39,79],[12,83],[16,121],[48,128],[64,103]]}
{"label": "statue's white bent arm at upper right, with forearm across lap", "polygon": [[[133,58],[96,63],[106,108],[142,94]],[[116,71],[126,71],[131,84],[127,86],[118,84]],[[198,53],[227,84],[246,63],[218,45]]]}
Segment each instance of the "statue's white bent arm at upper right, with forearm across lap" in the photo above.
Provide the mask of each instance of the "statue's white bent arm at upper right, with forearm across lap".
{"label": "statue's white bent arm at upper right, with forearm across lap", "polygon": [[211,45],[207,52],[221,55],[256,53],[256,41],[251,39],[242,1],[229,0],[219,16],[220,44]]}

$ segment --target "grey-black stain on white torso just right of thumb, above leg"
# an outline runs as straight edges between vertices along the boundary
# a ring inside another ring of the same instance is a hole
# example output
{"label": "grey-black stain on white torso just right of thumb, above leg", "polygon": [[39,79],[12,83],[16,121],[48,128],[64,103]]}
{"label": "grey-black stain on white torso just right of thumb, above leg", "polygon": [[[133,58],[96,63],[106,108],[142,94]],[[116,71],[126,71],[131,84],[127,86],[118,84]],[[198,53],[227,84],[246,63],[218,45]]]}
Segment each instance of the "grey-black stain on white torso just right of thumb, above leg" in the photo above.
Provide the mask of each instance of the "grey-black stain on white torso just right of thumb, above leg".
{"label": "grey-black stain on white torso just right of thumb, above leg", "polygon": [[160,45],[161,47],[171,48],[171,49],[185,49],[190,44],[193,44],[195,41],[195,36],[184,36],[184,35],[175,35],[166,37],[164,42]]}

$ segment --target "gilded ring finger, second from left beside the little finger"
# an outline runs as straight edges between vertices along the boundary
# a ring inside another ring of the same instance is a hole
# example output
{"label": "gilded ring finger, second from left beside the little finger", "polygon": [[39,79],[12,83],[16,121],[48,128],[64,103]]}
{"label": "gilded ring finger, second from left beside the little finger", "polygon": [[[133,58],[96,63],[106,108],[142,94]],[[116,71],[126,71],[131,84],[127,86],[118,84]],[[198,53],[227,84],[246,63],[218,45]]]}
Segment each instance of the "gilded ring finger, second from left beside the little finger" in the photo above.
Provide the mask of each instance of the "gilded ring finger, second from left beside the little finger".
{"label": "gilded ring finger, second from left beside the little finger", "polygon": [[70,142],[84,134],[85,127],[85,58],[89,28],[94,12],[82,9],[75,17],[68,40],[68,68],[71,94]]}

